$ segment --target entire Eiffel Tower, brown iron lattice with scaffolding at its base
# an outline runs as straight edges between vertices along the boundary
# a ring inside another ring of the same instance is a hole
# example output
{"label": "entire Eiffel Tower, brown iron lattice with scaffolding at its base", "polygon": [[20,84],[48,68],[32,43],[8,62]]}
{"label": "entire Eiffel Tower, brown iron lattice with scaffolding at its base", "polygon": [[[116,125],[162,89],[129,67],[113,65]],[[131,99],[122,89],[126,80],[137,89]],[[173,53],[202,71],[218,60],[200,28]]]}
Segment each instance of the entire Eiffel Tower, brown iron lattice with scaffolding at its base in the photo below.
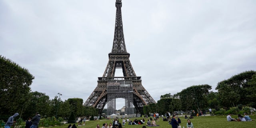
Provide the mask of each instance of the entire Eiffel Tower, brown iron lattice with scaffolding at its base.
{"label": "entire Eiffel Tower, brown iron lattice with scaffolding at its base", "polygon": [[[116,0],[116,23],[112,51],[108,54],[108,64],[102,77],[98,77],[98,85],[84,103],[84,106],[93,106],[102,112],[104,106],[115,110],[116,98],[124,98],[125,106],[130,103],[136,112],[143,112],[143,106],[156,103],[142,86],[141,76],[136,76],[129,60],[130,54],[126,51],[121,13],[122,2]],[[116,77],[116,68],[122,68],[123,77]],[[111,105],[112,104],[112,105]]]}

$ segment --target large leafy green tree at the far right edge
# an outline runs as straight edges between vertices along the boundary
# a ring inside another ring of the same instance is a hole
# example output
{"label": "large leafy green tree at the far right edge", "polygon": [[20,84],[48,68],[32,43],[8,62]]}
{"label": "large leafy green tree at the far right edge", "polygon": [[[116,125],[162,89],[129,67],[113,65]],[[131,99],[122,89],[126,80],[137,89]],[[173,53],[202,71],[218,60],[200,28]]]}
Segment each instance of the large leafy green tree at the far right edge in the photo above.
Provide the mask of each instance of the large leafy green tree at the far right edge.
{"label": "large leafy green tree at the far right edge", "polygon": [[255,106],[255,71],[246,71],[218,83],[218,98],[222,106],[230,108],[238,104]]}

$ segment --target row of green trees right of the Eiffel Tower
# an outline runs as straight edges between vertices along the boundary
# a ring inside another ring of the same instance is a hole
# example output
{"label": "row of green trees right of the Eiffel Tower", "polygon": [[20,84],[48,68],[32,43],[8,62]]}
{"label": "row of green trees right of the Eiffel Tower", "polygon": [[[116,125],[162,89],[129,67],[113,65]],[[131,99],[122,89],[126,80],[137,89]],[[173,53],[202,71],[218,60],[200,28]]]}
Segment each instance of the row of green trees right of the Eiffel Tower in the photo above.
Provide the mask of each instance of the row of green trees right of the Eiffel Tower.
{"label": "row of green trees right of the Eiffel Tower", "polygon": [[174,95],[160,96],[157,104],[144,106],[144,113],[159,112],[165,114],[173,111],[228,110],[232,107],[242,109],[243,106],[256,108],[256,71],[246,71],[234,75],[228,80],[218,83],[218,92],[210,91],[208,84],[194,85]]}

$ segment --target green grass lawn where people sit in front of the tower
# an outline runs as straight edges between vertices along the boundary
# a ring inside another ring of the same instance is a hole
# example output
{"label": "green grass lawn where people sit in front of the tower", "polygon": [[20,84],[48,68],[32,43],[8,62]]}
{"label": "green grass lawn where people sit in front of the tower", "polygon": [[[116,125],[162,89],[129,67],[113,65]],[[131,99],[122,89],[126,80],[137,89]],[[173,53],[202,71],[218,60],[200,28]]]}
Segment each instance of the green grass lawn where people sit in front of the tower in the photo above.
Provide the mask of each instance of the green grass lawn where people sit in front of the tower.
{"label": "green grass lawn where people sit in front of the tower", "polygon": [[[181,119],[181,126],[186,128],[187,119],[184,116],[179,116]],[[256,128],[256,115],[250,116],[253,121],[248,122],[228,122],[226,120],[226,116],[199,116],[190,119],[194,125],[194,128]],[[232,115],[232,118],[237,118],[237,115]],[[130,118],[130,120],[134,120],[135,118]],[[140,118],[137,118],[140,119]],[[172,128],[167,121],[163,121],[160,118],[160,122],[156,121],[156,124],[160,126],[155,127],[148,127],[147,128]],[[147,119],[145,119],[146,122]],[[103,123],[112,123],[113,119],[110,120],[96,120],[96,121],[86,121],[86,125],[84,126],[77,126],[77,128],[96,128],[97,124],[100,124],[100,128],[102,127]],[[121,119],[119,119],[122,122]],[[77,124],[76,124],[77,125]],[[140,125],[128,125],[126,122],[124,128],[142,128],[146,124]],[[67,128],[68,124],[64,124],[63,126],[55,126],[54,128]]]}

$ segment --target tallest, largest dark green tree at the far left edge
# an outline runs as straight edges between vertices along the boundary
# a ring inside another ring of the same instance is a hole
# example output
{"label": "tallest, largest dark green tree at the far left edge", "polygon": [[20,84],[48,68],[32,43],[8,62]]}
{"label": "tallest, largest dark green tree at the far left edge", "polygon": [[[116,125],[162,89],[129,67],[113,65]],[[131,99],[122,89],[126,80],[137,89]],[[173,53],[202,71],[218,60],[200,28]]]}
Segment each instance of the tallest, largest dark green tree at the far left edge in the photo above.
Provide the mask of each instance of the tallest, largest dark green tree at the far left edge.
{"label": "tallest, largest dark green tree at the far left edge", "polygon": [[23,113],[33,79],[26,68],[0,55],[0,120],[10,113]]}

